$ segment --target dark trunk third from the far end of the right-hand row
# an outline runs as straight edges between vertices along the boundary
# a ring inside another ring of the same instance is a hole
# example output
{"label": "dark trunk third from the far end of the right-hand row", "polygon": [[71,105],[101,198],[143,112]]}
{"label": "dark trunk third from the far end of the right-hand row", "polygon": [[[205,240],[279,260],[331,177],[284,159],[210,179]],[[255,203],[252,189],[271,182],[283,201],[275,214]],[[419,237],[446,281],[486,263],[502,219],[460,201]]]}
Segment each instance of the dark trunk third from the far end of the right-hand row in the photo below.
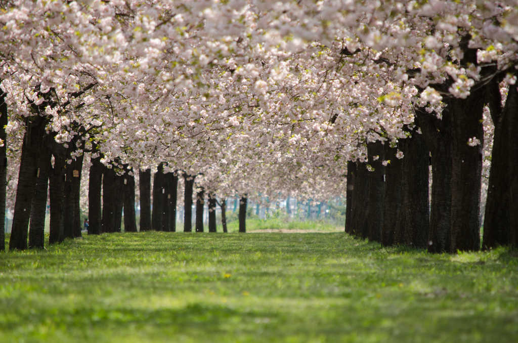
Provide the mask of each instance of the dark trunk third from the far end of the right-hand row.
{"label": "dark trunk third from the far end of the right-hand row", "polygon": [[[383,227],[383,192],[384,192],[384,168],[383,168],[383,143],[380,140],[367,144],[369,165],[374,169],[369,171],[369,235],[371,241],[381,242],[381,230]],[[375,161],[374,156],[378,156]]]}

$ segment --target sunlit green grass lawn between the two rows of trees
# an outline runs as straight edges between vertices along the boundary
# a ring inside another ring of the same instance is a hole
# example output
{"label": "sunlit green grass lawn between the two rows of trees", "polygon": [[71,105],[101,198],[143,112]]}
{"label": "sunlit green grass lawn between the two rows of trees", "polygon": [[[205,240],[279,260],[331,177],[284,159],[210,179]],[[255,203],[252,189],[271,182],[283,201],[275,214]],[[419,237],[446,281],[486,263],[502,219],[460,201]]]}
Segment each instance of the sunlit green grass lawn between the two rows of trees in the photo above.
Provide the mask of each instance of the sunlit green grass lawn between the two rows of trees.
{"label": "sunlit green grass lawn between the two rows of trees", "polygon": [[0,254],[0,342],[516,342],[514,251],[103,234]]}

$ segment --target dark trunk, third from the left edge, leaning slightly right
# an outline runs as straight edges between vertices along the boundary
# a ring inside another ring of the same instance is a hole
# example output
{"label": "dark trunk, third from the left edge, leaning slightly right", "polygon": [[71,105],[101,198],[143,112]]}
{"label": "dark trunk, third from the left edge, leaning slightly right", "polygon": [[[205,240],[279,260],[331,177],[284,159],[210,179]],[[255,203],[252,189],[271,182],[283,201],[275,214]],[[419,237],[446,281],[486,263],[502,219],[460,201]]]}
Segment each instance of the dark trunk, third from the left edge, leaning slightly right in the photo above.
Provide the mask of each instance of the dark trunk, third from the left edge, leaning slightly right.
{"label": "dark trunk, third from the left edge, leaning slightly right", "polygon": [[41,145],[38,157],[38,171],[36,172],[36,185],[34,187],[29,224],[30,249],[43,249],[45,247],[45,215],[47,213],[49,170],[52,156],[46,140],[44,138],[44,144]]}

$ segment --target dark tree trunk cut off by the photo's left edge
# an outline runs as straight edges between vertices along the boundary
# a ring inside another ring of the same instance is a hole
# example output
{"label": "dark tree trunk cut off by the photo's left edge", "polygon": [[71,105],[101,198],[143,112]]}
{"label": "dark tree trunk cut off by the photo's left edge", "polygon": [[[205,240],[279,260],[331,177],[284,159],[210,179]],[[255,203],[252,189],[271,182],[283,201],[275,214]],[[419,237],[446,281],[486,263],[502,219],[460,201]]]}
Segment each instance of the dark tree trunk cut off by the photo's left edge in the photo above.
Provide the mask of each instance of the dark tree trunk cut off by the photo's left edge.
{"label": "dark tree trunk cut off by the photo's left edge", "polygon": [[5,103],[6,94],[0,89],[0,139],[4,145],[0,147],[0,251],[5,250],[5,201],[7,187],[7,104]]}

